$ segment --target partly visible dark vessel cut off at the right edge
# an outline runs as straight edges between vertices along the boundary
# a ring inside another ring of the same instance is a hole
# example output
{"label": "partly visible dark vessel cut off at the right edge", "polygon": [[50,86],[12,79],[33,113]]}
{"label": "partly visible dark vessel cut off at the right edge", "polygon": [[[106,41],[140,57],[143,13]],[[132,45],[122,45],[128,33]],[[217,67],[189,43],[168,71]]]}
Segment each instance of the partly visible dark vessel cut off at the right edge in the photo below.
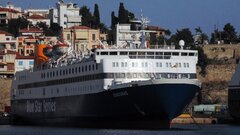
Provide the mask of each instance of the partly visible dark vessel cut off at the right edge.
{"label": "partly visible dark vessel cut off at the right edge", "polygon": [[228,109],[231,117],[240,122],[240,64],[237,64],[235,73],[228,84]]}

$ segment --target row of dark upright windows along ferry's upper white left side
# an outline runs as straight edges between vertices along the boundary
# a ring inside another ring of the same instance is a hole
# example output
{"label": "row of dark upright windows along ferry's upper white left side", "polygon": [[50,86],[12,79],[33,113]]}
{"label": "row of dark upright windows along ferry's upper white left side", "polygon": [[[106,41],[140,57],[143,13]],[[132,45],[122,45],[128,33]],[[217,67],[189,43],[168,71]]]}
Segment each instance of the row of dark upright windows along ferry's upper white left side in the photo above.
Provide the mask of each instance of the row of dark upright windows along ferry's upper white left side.
{"label": "row of dark upright windows along ferry's upper white left side", "polygon": [[81,66],[81,67],[75,67],[75,68],[69,68],[69,69],[63,69],[63,70],[57,70],[57,71],[50,71],[47,73],[42,73],[41,78],[52,78],[52,77],[58,77],[58,76],[65,76],[65,75],[70,75],[70,74],[76,74],[76,73],[81,73],[81,72],[88,72],[88,71],[94,71],[98,70],[98,65],[96,66],[94,64],[92,65],[86,65],[86,66]]}

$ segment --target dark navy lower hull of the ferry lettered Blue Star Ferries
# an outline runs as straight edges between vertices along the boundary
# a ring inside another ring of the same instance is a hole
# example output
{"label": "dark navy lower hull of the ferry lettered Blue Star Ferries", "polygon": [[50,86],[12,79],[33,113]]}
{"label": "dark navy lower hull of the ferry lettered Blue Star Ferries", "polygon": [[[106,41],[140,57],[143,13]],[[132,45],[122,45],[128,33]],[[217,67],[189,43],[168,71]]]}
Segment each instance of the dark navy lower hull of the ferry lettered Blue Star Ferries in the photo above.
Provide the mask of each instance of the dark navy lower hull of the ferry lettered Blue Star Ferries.
{"label": "dark navy lower hull of the ferry lettered Blue Star Ferries", "polygon": [[[33,124],[169,128],[200,87],[163,83],[95,94],[12,100],[15,118]],[[111,124],[110,124],[111,123]]]}

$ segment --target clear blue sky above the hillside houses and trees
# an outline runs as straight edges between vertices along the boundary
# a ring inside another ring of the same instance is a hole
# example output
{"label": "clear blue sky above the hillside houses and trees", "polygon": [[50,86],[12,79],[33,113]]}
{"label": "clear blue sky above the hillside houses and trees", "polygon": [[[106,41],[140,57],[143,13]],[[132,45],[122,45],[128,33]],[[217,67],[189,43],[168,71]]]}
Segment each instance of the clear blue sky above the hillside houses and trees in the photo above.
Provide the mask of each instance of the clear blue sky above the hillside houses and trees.
{"label": "clear blue sky above the hillside houses and trees", "polygon": [[[11,2],[17,7],[48,9],[55,7],[58,0],[0,0],[5,6]],[[214,27],[223,29],[231,23],[240,34],[240,0],[64,0],[82,7],[88,6],[93,12],[94,4],[99,6],[101,21],[108,27],[111,23],[111,12],[118,14],[119,3],[123,2],[127,10],[140,17],[143,15],[151,21],[149,25],[169,29],[172,33],[183,28],[190,28],[195,33],[196,27],[208,35]]]}

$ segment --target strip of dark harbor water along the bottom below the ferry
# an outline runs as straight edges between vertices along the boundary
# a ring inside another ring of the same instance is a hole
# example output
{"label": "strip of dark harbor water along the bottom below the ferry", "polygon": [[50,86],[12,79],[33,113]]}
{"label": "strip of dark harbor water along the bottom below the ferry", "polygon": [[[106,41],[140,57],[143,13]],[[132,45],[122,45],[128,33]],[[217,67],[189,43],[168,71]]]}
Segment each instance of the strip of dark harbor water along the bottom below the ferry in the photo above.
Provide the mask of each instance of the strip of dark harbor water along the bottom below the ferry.
{"label": "strip of dark harbor water along the bottom below the ferry", "polygon": [[170,130],[84,129],[0,125],[0,135],[240,135],[240,125],[172,125]]}

